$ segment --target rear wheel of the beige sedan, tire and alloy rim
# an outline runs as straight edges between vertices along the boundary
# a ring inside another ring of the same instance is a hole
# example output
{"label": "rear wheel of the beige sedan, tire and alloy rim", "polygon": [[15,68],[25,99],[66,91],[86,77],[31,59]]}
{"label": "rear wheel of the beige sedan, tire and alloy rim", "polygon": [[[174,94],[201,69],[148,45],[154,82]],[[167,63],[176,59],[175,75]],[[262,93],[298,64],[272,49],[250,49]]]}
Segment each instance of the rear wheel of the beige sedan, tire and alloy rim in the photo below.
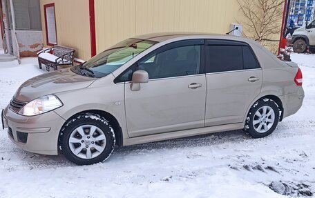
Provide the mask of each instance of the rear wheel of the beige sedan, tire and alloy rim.
{"label": "rear wheel of the beige sedan, tire and alloy rim", "polygon": [[245,122],[245,132],[254,138],[266,137],[276,129],[280,110],[278,104],[271,99],[256,101]]}

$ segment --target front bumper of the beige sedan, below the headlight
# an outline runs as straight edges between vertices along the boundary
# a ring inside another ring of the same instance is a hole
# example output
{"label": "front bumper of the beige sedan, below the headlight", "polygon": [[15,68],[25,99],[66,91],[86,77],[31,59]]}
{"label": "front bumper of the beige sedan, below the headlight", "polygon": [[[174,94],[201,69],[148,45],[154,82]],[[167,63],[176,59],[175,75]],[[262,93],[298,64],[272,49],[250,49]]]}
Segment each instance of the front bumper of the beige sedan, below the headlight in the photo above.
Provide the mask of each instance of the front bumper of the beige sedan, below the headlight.
{"label": "front bumper of the beige sedan, below the headlight", "polygon": [[65,120],[54,111],[27,117],[7,107],[1,119],[3,127],[8,128],[8,137],[23,150],[44,155],[58,154],[59,131]]}

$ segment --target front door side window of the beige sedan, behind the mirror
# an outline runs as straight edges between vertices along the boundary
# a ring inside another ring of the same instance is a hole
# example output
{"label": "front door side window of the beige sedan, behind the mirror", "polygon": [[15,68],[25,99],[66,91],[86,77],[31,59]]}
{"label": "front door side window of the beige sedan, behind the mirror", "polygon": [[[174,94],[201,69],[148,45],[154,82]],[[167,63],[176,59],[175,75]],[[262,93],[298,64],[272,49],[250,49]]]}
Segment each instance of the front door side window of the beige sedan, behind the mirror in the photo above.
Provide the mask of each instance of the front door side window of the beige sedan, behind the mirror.
{"label": "front door side window of the beige sedan, behind the mirror", "polygon": [[164,49],[162,47],[162,49],[155,50],[146,55],[131,66],[131,68],[123,72],[118,77],[117,82],[131,81],[135,70],[145,70],[149,74],[149,79],[199,74],[201,45],[199,43],[192,43],[186,46],[183,45],[183,41],[180,41],[180,43],[180,46],[172,43],[172,47],[166,46]]}

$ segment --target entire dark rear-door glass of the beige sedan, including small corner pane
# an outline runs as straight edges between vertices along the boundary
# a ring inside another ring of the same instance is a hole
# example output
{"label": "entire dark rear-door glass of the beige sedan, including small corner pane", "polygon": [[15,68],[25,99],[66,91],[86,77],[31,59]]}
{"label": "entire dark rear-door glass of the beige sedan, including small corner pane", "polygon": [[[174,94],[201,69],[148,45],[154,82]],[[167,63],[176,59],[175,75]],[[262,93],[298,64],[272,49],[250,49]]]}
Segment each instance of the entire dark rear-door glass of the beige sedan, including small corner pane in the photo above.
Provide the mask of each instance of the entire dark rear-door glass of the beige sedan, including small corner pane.
{"label": "entire dark rear-door glass of the beige sedan, including small corner pane", "polygon": [[[221,42],[221,43],[220,43]],[[209,41],[206,72],[229,72],[259,68],[258,61],[246,43]]]}

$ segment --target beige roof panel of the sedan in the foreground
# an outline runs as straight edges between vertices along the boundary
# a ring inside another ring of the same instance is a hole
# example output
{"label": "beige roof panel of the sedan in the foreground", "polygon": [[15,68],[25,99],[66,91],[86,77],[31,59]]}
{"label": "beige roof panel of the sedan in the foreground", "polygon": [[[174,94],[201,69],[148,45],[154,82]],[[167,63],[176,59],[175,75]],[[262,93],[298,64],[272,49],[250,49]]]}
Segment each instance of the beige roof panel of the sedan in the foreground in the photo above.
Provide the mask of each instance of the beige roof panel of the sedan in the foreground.
{"label": "beige roof panel of the sedan in the foreground", "polygon": [[189,37],[199,38],[199,39],[229,39],[233,41],[243,41],[246,43],[256,43],[254,40],[247,39],[245,37],[236,37],[229,34],[211,34],[211,33],[200,33],[200,32],[158,32],[152,34],[142,34],[134,39],[144,39],[151,41],[167,41],[169,39],[189,39]]}

